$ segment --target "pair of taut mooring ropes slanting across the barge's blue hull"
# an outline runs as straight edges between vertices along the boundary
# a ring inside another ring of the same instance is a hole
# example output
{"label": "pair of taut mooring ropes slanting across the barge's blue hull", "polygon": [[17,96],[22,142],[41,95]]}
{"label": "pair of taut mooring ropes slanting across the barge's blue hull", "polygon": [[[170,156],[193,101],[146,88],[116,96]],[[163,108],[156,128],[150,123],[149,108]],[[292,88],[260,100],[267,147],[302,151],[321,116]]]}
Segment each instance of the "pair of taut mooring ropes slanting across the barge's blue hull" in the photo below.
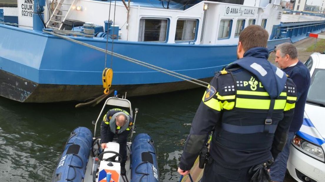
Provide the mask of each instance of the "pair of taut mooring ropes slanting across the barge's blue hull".
{"label": "pair of taut mooring ropes slanting across the barge's blue hull", "polygon": [[164,74],[174,76],[176,78],[188,81],[188,82],[196,84],[196,85],[200,85],[200,86],[203,86],[203,87],[206,87],[206,88],[208,88],[208,85],[209,85],[209,83],[207,83],[207,82],[204,82],[204,81],[201,81],[201,80],[186,76],[184,74],[179,74],[179,73],[176,73],[176,72],[173,72],[173,71],[170,71],[170,70],[167,70],[167,69],[164,69],[164,68],[149,64],[149,63],[145,63],[145,62],[133,59],[133,58],[129,58],[127,56],[123,56],[122,54],[118,54],[118,53],[115,53],[115,52],[112,52],[112,51],[108,51],[108,50],[105,50],[105,49],[102,49],[102,48],[87,44],[87,43],[82,42],[82,41],[74,40],[74,39],[71,39],[69,37],[65,37],[65,36],[62,36],[62,35],[59,35],[59,34],[56,34],[56,33],[50,32],[50,31],[46,31],[46,30],[43,30],[43,32],[54,35],[54,36],[57,36],[57,37],[60,37],[60,38],[65,39],[65,40],[70,40],[72,42],[75,42],[75,43],[80,44],[80,45],[84,45],[86,47],[95,49],[97,51],[105,52],[106,54],[107,53],[112,54],[113,56],[115,56],[117,58],[121,58],[123,60],[139,64],[141,66],[144,66],[144,67],[147,67],[147,68],[162,72]]}

